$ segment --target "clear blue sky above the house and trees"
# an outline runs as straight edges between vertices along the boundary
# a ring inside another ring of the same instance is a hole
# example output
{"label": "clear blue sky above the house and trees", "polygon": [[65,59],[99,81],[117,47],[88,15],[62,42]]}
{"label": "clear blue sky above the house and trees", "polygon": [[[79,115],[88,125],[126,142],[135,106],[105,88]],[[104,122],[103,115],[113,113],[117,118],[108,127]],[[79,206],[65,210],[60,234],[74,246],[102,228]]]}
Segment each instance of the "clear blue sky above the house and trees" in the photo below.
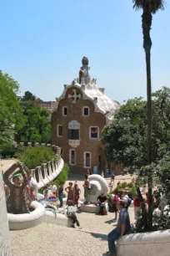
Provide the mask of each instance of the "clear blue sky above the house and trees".
{"label": "clear blue sky above the house and trees", "polygon": [[[97,86],[121,103],[146,97],[141,12],[132,0],[1,0],[0,69],[42,100],[78,77],[87,55]],[[153,91],[170,86],[170,7],[153,17]]]}

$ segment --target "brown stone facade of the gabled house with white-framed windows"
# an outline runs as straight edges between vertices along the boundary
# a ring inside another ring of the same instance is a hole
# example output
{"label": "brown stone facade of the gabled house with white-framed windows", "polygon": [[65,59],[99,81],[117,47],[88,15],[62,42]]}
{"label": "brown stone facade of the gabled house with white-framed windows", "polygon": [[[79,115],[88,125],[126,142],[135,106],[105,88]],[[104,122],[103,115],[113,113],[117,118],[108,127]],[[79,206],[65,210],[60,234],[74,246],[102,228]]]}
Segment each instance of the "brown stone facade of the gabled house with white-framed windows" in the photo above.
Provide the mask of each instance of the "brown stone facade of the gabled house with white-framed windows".
{"label": "brown stone facade of the gabled house with white-framed windows", "polygon": [[[72,94],[72,88],[67,90],[65,99],[60,100],[57,110],[52,113],[52,144],[60,146],[63,151],[63,159],[65,162],[70,161],[70,150],[76,151],[76,165],[70,165],[71,172],[83,174],[87,169],[93,170],[93,166],[97,166],[97,172],[101,172],[106,167],[106,161],[103,153],[102,128],[106,125],[106,118],[101,113],[94,111],[94,105],[91,100],[78,100],[77,103],[72,103],[68,100],[68,95]],[[77,90],[77,89],[76,89]],[[82,96],[80,90],[77,94]],[[67,107],[67,116],[62,115],[63,107]],[[89,116],[83,116],[83,107],[89,108]],[[72,147],[68,144],[68,123],[72,120],[77,120],[80,124],[80,145]],[[57,125],[62,125],[62,137],[57,136]],[[98,127],[99,139],[90,139],[90,127]],[[84,152],[91,153],[91,166],[84,168]]]}

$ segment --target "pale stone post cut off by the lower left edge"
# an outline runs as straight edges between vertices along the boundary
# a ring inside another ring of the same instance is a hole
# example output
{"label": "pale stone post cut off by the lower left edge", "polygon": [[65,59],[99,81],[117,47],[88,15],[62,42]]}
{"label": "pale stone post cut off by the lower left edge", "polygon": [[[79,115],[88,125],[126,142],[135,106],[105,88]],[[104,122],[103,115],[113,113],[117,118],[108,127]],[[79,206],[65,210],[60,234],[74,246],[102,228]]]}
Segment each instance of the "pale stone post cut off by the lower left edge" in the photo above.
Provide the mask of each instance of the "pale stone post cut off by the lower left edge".
{"label": "pale stone post cut off by the lower left edge", "polygon": [[2,172],[0,169],[0,253],[1,255],[12,256],[9,241],[9,228],[7,221],[7,206],[2,182]]}

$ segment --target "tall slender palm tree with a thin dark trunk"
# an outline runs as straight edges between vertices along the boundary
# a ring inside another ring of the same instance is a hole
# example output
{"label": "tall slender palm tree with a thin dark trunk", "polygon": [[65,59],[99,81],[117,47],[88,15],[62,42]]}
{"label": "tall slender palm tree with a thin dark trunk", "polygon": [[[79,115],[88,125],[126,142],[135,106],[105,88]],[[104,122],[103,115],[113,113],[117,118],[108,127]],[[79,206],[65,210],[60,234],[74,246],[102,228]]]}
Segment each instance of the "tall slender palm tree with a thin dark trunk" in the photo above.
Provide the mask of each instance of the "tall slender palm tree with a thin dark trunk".
{"label": "tall slender palm tree with a thin dark trunk", "polygon": [[[151,47],[152,40],[150,30],[152,26],[153,14],[164,9],[163,0],[133,0],[135,9],[143,9],[143,48],[146,55],[147,64],[147,98],[148,98],[148,165],[152,162],[152,90],[151,90]],[[153,178],[148,177],[148,230],[153,228]]]}

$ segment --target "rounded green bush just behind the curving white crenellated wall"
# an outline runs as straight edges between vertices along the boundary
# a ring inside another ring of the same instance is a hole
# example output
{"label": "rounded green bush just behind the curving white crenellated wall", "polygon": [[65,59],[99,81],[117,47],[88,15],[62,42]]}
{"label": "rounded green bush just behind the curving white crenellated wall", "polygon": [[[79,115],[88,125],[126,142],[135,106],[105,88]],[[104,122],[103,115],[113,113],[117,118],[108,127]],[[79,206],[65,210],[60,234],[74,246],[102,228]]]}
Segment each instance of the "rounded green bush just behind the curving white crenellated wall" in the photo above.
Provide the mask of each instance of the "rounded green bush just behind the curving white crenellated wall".
{"label": "rounded green bush just behind the curving white crenellated wall", "polygon": [[22,161],[29,169],[33,169],[37,166],[41,166],[42,163],[51,161],[54,159],[55,154],[52,148],[46,146],[37,146],[25,148],[22,152],[17,154],[17,157]]}

